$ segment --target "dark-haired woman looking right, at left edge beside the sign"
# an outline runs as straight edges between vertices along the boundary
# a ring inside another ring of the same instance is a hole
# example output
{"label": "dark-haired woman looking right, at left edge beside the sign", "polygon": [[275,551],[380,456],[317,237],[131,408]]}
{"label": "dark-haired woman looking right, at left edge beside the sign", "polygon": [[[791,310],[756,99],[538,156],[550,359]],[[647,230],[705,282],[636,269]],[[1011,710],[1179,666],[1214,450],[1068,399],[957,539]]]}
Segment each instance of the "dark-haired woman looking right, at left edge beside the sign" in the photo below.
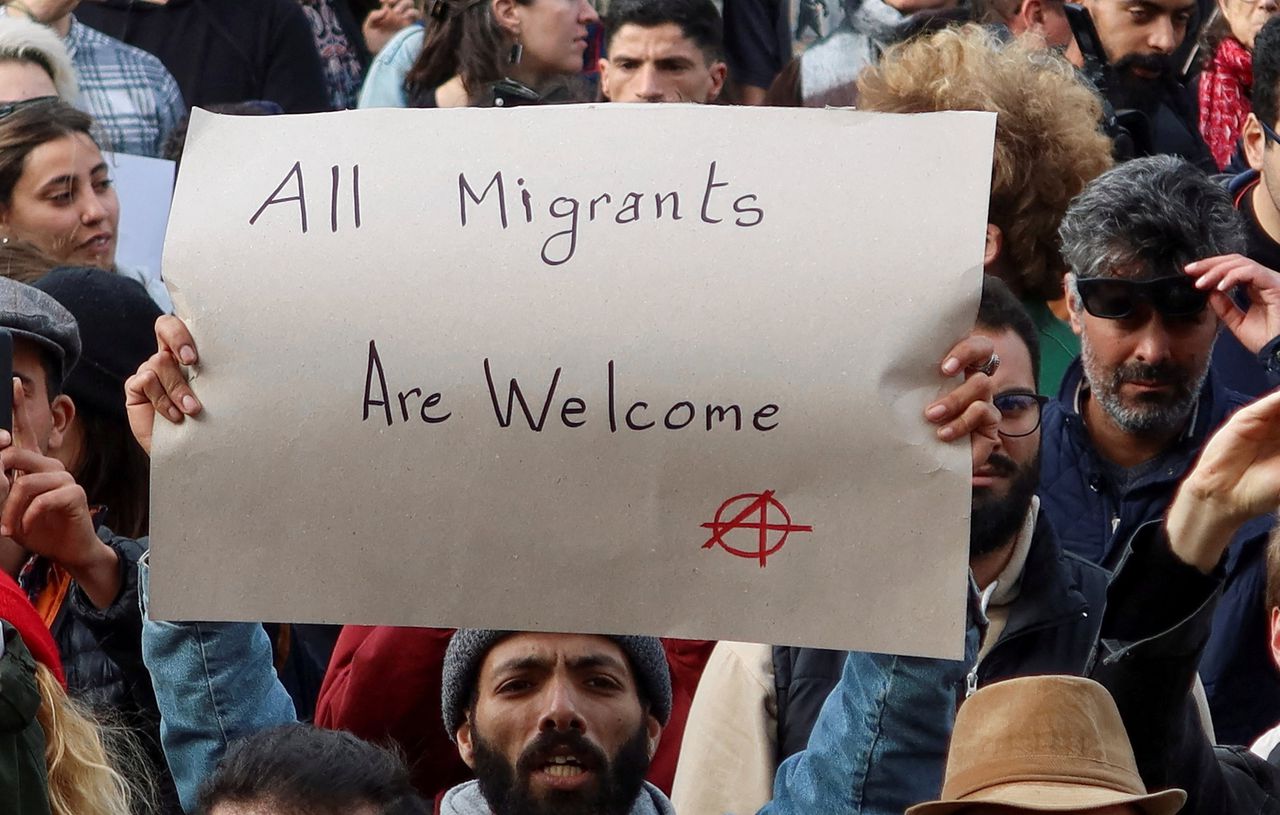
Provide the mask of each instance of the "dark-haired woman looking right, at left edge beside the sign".
{"label": "dark-haired woman looking right, at left edge beside the sign", "polygon": [[0,105],[0,243],[29,241],[60,265],[132,278],[169,311],[160,280],[115,265],[120,202],[92,127],[54,97]]}

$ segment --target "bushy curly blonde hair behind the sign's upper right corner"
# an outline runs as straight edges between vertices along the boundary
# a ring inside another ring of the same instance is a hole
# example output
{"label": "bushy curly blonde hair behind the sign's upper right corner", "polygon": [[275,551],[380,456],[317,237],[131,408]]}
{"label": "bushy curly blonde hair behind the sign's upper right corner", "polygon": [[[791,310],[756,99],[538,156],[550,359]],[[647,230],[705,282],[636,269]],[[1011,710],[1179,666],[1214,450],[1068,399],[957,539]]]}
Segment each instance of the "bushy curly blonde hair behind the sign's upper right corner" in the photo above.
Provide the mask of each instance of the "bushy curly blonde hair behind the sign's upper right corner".
{"label": "bushy curly blonde hair behind the sign's upper right corner", "polygon": [[858,99],[883,113],[996,113],[987,221],[1004,233],[997,274],[1019,298],[1062,296],[1057,225],[1071,198],[1111,166],[1102,105],[1066,60],[961,26],[891,49],[858,78]]}

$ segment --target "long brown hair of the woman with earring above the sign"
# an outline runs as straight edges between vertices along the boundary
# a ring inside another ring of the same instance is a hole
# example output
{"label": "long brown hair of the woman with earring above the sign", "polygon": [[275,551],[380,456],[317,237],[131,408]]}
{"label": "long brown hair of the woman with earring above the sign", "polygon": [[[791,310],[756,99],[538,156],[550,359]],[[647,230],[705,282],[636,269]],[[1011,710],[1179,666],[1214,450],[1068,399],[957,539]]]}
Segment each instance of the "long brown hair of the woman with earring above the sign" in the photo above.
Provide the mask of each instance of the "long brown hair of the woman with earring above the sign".
{"label": "long brown hair of the woman with earring above the sign", "polygon": [[[531,5],[534,0],[516,0]],[[498,24],[489,0],[435,0],[428,5],[422,51],[404,74],[410,107],[434,107],[435,88],[454,75],[462,77],[467,95],[477,97],[490,82],[502,79],[511,49],[511,35]]]}

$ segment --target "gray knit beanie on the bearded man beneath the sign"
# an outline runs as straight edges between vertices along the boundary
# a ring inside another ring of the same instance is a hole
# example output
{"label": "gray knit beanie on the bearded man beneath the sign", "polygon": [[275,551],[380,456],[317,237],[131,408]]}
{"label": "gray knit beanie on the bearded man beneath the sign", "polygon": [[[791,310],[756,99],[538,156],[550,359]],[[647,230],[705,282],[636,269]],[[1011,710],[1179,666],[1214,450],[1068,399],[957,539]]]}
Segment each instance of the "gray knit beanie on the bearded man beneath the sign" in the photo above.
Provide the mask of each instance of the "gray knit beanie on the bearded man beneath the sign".
{"label": "gray knit beanie on the bearded man beneath the sign", "polygon": [[[518,631],[493,631],[489,628],[458,628],[444,651],[444,678],[442,688],[442,708],[444,710],[444,729],[449,738],[457,741],[458,728],[466,719],[467,705],[471,701],[471,688],[480,678],[480,663],[499,640]],[[667,724],[671,716],[671,668],[667,667],[667,653],[658,637],[608,636],[631,660],[631,670],[636,674],[640,692],[649,701],[649,711],[659,724]]]}

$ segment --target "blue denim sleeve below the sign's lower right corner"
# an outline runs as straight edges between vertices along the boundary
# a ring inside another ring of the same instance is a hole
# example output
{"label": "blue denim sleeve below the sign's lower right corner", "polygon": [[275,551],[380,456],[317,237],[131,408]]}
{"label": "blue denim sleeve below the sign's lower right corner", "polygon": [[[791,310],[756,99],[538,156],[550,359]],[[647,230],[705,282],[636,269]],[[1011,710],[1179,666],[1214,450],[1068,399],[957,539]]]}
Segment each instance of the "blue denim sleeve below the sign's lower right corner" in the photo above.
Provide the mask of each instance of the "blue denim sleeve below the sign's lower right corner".
{"label": "blue denim sleeve below the sign's lower right corner", "polygon": [[759,815],[902,815],[937,797],[978,631],[969,627],[960,661],[851,651]]}

